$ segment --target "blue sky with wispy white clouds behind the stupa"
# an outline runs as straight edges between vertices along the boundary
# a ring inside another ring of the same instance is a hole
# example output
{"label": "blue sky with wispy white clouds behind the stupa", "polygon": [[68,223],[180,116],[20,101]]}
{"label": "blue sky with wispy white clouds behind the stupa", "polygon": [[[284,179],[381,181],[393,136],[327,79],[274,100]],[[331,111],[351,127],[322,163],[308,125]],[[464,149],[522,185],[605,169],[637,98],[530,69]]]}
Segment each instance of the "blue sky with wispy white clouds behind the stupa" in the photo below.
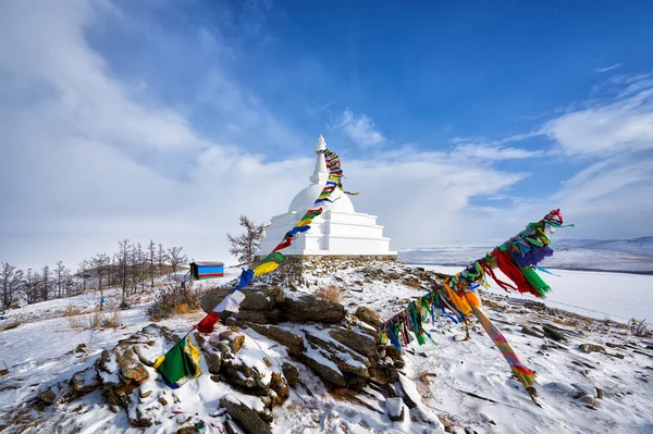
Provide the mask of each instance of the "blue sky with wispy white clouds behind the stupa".
{"label": "blue sky with wispy white clouds behind the stupa", "polygon": [[552,208],[565,237],[651,235],[650,2],[2,8],[2,260],[124,237],[224,257],[239,213],[285,211],[319,134],[394,248],[500,241]]}

